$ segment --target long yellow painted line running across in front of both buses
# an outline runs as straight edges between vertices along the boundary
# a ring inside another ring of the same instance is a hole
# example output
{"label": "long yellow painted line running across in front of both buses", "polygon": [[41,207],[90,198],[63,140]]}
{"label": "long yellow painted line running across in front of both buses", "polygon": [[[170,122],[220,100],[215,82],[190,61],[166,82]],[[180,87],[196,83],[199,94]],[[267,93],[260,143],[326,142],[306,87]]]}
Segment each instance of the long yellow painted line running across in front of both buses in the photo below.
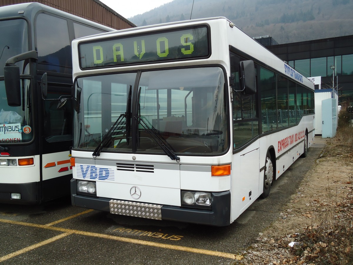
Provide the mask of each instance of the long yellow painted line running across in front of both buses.
{"label": "long yellow painted line running across in front of both buses", "polygon": [[172,250],[184,251],[184,252],[190,252],[190,253],[196,253],[196,254],[211,255],[211,256],[216,256],[216,257],[221,257],[221,258],[237,259],[237,260],[243,259],[243,256],[241,256],[241,255],[236,255],[236,254],[226,253],[226,252],[219,252],[219,251],[212,251],[212,250],[207,250],[207,249],[168,245],[168,244],[164,244],[164,243],[150,242],[150,241],[144,241],[144,240],[139,240],[139,239],[127,238],[127,237],[98,234],[98,233],[93,233],[93,232],[60,228],[60,227],[48,226],[48,225],[42,225],[42,224],[25,223],[25,222],[6,220],[6,219],[0,219],[0,222],[8,223],[8,224],[25,225],[25,226],[35,227],[35,228],[49,229],[49,230],[59,231],[59,232],[63,232],[63,233],[105,238],[105,239],[109,239],[109,240],[116,240],[116,241],[120,241],[120,242],[132,243],[132,244],[137,244],[137,245],[159,247],[159,248],[172,249]]}

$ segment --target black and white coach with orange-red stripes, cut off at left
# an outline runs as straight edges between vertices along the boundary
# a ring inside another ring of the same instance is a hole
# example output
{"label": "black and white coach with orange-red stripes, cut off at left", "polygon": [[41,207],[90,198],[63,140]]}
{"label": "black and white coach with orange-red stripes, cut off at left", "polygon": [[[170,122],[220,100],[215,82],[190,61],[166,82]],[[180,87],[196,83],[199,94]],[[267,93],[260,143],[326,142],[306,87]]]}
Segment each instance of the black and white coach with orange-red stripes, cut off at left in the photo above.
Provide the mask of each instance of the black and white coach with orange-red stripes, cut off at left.
{"label": "black and white coach with orange-red stripes, cut off at left", "polygon": [[[12,1],[14,2],[14,1]],[[0,203],[70,195],[71,41],[113,29],[33,2],[0,7]]]}

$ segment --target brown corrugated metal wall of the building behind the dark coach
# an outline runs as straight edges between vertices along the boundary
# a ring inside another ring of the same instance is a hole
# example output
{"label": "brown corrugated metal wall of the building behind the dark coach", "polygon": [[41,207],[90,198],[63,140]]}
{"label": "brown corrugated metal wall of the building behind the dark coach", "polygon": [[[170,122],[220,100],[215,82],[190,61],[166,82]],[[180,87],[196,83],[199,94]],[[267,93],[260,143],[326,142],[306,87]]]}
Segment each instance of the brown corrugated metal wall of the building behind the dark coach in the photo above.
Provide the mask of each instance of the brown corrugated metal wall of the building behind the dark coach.
{"label": "brown corrugated metal wall of the building behind the dark coach", "polygon": [[136,27],[99,0],[0,0],[0,6],[38,2],[113,29]]}

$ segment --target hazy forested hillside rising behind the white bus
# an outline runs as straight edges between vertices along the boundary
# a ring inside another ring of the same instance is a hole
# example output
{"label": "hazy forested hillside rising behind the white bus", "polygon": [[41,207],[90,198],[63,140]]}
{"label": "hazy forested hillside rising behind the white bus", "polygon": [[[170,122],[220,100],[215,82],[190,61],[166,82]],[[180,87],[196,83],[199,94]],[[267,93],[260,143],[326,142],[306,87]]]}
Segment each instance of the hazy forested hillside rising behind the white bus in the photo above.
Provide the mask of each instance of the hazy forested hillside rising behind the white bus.
{"label": "hazy forested hillside rising behind the white bus", "polygon": [[[190,19],[192,0],[129,18],[138,26]],[[278,43],[353,35],[353,0],[195,0],[191,18],[227,17],[251,37]]]}

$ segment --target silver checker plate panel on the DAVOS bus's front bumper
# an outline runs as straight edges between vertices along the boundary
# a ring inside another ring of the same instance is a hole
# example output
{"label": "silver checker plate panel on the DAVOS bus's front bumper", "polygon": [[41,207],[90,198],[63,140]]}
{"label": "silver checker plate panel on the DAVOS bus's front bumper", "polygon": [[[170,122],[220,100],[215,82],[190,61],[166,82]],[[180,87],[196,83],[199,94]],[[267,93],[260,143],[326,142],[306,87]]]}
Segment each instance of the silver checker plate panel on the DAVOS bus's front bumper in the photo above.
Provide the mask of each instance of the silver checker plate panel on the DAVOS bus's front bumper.
{"label": "silver checker plate panel on the DAVOS bus's front bumper", "polygon": [[126,216],[143,217],[162,220],[162,205],[144,204],[140,202],[110,200],[110,213]]}

